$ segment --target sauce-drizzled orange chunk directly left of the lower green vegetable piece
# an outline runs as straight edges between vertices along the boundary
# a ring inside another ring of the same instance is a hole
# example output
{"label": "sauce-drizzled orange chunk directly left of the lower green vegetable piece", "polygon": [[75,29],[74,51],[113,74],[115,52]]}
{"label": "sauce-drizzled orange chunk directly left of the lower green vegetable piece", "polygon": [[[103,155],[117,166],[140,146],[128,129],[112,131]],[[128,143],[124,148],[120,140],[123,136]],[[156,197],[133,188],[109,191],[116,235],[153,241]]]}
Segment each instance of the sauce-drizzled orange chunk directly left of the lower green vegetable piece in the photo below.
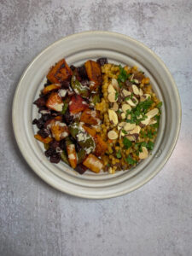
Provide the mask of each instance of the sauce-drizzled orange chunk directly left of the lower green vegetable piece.
{"label": "sauce-drizzled orange chunk directly left of the lower green vegetable piece", "polygon": [[57,142],[61,141],[69,135],[69,131],[65,123],[61,123],[57,120],[51,120],[50,124],[52,136]]}

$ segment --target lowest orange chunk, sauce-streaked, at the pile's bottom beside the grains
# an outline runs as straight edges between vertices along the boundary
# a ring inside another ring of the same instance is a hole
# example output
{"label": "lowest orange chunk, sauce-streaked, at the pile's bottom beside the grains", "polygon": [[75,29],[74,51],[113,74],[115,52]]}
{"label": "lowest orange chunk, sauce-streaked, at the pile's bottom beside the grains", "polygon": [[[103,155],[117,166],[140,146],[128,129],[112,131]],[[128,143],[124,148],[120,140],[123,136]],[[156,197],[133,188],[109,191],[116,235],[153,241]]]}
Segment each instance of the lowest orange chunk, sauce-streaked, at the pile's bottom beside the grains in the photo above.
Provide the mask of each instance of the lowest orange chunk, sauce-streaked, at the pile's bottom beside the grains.
{"label": "lowest orange chunk, sauce-streaked, at the pile's bottom beside the grains", "polygon": [[102,160],[98,159],[94,154],[89,154],[84,160],[83,165],[96,173],[100,172],[103,168]]}

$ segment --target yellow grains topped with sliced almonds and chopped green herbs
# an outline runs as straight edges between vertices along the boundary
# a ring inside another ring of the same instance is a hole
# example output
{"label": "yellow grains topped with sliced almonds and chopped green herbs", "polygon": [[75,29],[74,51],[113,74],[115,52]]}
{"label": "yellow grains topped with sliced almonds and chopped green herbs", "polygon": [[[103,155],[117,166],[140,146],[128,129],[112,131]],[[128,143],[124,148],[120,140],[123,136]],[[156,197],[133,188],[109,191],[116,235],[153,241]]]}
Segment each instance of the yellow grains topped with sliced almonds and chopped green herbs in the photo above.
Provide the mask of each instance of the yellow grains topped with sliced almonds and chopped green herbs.
{"label": "yellow grains topped with sliced almonds and chopped green herbs", "polygon": [[137,67],[102,66],[102,99],[96,104],[108,143],[102,155],[104,171],[114,173],[136,166],[154,148],[162,102],[150,80]]}

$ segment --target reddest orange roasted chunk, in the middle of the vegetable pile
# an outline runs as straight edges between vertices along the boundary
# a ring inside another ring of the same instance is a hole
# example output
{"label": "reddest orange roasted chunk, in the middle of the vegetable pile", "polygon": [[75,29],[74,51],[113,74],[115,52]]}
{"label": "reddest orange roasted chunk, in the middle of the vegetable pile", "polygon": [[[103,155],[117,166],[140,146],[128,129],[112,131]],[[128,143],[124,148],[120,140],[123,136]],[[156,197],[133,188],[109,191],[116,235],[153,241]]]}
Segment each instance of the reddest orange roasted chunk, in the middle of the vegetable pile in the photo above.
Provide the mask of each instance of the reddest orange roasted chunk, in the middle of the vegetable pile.
{"label": "reddest orange roasted chunk, in the middle of the vegetable pile", "polygon": [[69,102],[69,112],[79,113],[85,108],[88,108],[88,104],[84,102],[84,99],[79,95],[72,96],[71,102]]}

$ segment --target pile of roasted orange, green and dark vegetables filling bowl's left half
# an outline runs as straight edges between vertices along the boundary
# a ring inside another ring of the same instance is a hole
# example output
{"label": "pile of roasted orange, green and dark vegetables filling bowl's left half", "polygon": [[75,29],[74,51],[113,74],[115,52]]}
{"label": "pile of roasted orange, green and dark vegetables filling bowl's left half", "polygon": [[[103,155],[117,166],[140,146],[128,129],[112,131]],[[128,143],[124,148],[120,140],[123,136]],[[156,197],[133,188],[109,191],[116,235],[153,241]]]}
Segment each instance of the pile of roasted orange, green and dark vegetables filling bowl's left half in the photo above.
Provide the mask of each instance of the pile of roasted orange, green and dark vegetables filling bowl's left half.
{"label": "pile of roasted orange, green and dark vegetables filling bowl's left half", "polygon": [[101,98],[101,66],[107,62],[101,58],[69,67],[62,59],[50,68],[34,102],[41,117],[32,121],[38,127],[34,137],[44,143],[50,162],[63,160],[81,174],[103,169],[101,155],[108,145],[97,133],[101,120],[95,106]]}

